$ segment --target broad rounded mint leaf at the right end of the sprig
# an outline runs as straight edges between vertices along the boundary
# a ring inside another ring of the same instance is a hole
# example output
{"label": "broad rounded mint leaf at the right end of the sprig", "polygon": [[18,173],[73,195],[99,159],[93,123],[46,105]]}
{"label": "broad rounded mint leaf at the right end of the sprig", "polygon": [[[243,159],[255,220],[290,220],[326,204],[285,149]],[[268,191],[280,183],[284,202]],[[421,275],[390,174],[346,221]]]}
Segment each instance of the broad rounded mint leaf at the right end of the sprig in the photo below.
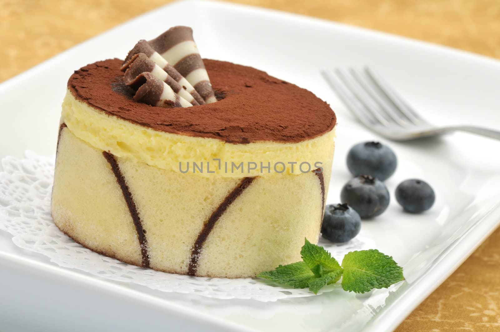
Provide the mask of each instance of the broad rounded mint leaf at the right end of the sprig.
{"label": "broad rounded mint leaf at the right end of the sprig", "polygon": [[342,288],[356,293],[387,288],[404,280],[402,267],[391,256],[376,249],[347,253],[342,260],[342,267]]}

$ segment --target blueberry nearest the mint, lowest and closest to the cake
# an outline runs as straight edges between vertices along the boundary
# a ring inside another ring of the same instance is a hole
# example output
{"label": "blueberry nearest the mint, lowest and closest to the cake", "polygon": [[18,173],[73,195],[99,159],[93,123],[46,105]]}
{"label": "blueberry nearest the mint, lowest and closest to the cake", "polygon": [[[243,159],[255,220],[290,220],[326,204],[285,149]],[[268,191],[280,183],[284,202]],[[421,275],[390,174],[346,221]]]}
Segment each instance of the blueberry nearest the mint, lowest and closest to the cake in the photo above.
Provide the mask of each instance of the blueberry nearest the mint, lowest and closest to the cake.
{"label": "blueberry nearest the mint, lowest and closest to the cake", "polygon": [[321,235],[332,242],[347,242],[359,233],[361,218],[347,204],[326,205]]}

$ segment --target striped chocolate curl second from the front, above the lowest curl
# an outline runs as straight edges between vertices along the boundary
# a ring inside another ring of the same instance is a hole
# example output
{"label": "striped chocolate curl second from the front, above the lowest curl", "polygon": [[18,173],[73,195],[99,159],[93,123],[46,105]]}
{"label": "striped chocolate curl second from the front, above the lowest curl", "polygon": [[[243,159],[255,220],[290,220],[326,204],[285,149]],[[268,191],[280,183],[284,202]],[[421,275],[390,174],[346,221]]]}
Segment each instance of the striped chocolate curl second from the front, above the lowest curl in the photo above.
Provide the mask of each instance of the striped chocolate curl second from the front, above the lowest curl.
{"label": "striped chocolate curl second from the front, above the lowest curl", "polygon": [[[125,75],[123,76],[123,81],[127,85],[131,85],[131,82],[142,72],[150,72],[156,78],[161,79],[165,83],[167,83],[173,90],[173,92],[177,93],[182,98],[189,101],[192,105],[199,105],[199,103],[194,99],[194,97],[184,90],[179,83],[177,83],[170,75],[166,73],[165,70],[161,69],[156,63],[154,63],[150,58],[146,56],[144,53],[135,54],[132,56],[129,66],[125,71]],[[132,86],[133,88],[137,88]]]}

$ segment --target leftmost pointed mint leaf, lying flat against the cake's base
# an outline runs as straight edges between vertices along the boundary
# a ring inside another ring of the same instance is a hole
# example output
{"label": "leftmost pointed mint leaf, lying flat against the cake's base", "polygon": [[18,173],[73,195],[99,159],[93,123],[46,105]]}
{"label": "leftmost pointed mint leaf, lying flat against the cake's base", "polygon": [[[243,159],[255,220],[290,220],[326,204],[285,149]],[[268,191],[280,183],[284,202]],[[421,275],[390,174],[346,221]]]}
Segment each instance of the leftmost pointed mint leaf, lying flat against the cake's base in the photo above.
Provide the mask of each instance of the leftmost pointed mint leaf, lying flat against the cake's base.
{"label": "leftmost pointed mint leaf, lying flat against the cake's base", "polygon": [[314,273],[303,261],[279,265],[272,271],[260,272],[257,277],[287,284],[294,288],[306,288],[309,286],[310,280],[315,278]]}

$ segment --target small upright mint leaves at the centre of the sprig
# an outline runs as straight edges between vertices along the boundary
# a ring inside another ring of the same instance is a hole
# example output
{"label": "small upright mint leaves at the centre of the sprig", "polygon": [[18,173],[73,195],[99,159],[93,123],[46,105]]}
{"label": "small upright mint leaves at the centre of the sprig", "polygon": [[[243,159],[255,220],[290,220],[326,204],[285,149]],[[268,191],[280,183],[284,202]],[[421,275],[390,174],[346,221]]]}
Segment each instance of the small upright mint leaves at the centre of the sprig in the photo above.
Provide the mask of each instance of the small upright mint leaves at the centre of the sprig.
{"label": "small upright mint leaves at the centre of the sprig", "polygon": [[322,246],[312,244],[305,239],[305,244],[300,250],[300,255],[316,277],[320,278],[326,274],[333,273],[331,275],[334,275],[334,277],[328,280],[326,284],[336,282],[340,279],[342,267]]}

